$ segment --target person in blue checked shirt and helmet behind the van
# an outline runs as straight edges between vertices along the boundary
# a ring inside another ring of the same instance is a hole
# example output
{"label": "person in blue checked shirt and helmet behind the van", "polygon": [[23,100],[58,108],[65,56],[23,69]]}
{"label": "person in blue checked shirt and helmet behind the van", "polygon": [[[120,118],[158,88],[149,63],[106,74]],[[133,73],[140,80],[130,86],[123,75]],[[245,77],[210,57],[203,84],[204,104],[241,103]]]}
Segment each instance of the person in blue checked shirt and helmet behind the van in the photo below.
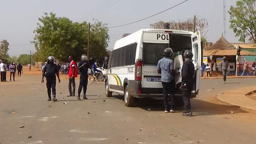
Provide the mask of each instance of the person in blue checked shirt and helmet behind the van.
{"label": "person in blue checked shirt and helmet behind the van", "polygon": [[[171,59],[172,49],[164,49],[162,55],[164,58],[158,61],[158,73],[161,74],[162,91],[164,98],[165,112],[174,112],[174,96],[175,96],[175,80],[174,80],[174,62]],[[171,92],[170,100],[171,107],[168,105],[168,94]]]}

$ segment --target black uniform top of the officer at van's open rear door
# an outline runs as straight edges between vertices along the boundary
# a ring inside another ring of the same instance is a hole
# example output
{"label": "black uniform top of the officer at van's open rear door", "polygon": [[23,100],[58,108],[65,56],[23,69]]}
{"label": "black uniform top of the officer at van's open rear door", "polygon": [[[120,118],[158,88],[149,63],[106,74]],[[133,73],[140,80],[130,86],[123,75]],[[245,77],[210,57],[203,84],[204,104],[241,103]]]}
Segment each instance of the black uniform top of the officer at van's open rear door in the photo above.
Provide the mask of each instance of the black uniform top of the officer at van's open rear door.
{"label": "black uniform top of the officer at van's open rear door", "polygon": [[194,75],[194,64],[192,62],[183,63],[181,70],[181,84],[193,84],[193,75]]}

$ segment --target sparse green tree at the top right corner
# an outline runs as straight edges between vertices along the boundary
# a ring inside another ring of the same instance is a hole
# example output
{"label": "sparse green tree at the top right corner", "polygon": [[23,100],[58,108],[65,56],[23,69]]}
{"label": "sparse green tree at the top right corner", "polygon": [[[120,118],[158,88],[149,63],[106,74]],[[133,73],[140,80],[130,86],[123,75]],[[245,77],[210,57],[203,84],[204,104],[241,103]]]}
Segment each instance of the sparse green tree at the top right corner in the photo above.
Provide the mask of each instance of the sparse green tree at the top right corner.
{"label": "sparse green tree at the top right corner", "polygon": [[236,1],[236,7],[231,6],[230,28],[233,29],[240,42],[249,38],[250,42],[256,43],[256,0]]}

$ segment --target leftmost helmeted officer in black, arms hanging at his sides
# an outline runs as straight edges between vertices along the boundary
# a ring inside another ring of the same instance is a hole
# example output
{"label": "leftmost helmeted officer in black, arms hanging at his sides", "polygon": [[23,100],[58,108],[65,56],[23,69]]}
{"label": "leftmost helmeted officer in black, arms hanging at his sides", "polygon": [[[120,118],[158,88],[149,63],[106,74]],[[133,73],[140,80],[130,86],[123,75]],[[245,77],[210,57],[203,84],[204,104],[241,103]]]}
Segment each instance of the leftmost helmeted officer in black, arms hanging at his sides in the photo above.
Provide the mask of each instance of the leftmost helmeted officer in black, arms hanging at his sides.
{"label": "leftmost helmeted officer in black, arms hanging at his sides", "polygon": [[47,87],[47,94],[48,94],[48,100],[51,101],[51,88],[52,88],[52,94],[53,94],[53,101],[57,101],[56,99],[56,75],[59,79],[59,71],[56,64],[54,64],[54,57],[49,56],[47,58],[47,65],[44,66],[43,69],[43,75],[42,75],[42,83],[44,83],[44,77],[46,77],[46,87]]}

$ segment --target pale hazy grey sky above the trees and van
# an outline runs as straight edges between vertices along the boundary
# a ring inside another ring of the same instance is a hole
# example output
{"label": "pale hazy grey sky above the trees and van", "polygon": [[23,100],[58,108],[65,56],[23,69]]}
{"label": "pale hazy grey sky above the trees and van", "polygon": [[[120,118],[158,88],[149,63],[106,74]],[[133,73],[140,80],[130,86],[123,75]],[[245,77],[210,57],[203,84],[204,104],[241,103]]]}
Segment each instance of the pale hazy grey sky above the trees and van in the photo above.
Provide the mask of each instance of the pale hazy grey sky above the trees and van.
{"label": "pale hazy grey sky above the trees and van", "polygon": [[[0,40],[7,39],[9,55],[29,54],[35,50],[30,44],[38,18],[44,12],[53,12],[58,17],[68,17],[74,22],[93,23],[95,18],[109,27],[130,23],[154,15],[184,0],[1,0]],[[229,28],[228,10],[235,6],[236,0],[226,0],[226,39],[238,42],[233,30]],[[186,20],[196,15],[208,20],[208,42],[216,42],[223,33],[223,0],[188,0],[162,14],[132,25],[110,28],[108,49],[122,38],[124,33],[133,33],[143,28],[150,28],[150,23],[170,20]]]}

